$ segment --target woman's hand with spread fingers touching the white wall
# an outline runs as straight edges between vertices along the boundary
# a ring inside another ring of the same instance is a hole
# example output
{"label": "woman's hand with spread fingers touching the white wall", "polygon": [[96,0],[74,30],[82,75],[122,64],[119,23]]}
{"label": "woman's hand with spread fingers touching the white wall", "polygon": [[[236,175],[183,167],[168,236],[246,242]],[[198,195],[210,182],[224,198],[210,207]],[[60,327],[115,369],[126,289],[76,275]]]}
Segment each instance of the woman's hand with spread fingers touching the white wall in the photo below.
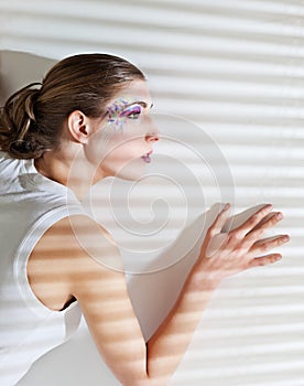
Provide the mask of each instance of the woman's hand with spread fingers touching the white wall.
{"label": "woman's hand with spread fingers touching the white wall", "polygon": [[290,239],[287,235],[262,238],[268,229],[283,218],[281,212],[271,212],[272,205],[264,205],[236,229],[222,233],[229,208],[227,204],[209,227],[198,261],[204,275],[209,274],[217,282],[246,269],[280,260],[280,254],[264,254]]}

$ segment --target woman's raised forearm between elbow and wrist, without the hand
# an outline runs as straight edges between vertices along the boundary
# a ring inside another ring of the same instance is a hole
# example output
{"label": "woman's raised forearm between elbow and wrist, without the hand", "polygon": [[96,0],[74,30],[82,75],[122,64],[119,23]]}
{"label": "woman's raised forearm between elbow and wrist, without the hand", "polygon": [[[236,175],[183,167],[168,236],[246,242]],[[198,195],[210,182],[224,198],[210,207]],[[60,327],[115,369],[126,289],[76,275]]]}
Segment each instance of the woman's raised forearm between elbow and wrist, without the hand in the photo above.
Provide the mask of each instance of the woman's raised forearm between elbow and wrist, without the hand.
{"label": "woman's raised forearm between elbow and wrist, without the hand", "polygon": [[146,343],[146,385],[166,385],[182,360],[218,282],[197,266],[154,335]]}

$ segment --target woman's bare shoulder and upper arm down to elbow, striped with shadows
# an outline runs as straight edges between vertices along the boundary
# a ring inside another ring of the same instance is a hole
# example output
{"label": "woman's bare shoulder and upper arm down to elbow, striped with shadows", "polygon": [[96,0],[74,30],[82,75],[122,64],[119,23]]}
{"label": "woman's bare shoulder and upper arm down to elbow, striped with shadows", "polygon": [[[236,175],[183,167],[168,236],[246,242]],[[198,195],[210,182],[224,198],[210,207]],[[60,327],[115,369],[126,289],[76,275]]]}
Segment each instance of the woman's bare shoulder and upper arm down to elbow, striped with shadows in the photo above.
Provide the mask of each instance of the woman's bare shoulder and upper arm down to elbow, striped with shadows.
{"label": "woman's bare shoulder and upper arm down to elbow, striped with shadows", "polygon": [[59,221],[35,247],[28,275],[44,303],[61,304],[62,299],[75,297],[113,374],[126,386],[142,385],[146,347],[119,250],[105,229],[82,215]]}

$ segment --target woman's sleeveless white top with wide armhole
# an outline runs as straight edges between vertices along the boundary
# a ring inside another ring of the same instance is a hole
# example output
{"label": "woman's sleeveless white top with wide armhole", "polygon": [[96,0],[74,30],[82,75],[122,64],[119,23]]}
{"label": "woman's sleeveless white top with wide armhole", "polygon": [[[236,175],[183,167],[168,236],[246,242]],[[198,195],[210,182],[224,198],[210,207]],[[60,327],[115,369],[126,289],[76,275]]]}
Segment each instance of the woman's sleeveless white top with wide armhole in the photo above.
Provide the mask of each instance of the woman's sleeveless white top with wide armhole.
{"label": "woman's sleeveless white top with wide armhole", "polygon": [[41,236],[72,214],[87,214],[66,186],[37,173],[33,160],[0,152],[0,385],[12,386],[41,355],[77,330],[77,302],[52,311],[35,297],[26,262]]}

